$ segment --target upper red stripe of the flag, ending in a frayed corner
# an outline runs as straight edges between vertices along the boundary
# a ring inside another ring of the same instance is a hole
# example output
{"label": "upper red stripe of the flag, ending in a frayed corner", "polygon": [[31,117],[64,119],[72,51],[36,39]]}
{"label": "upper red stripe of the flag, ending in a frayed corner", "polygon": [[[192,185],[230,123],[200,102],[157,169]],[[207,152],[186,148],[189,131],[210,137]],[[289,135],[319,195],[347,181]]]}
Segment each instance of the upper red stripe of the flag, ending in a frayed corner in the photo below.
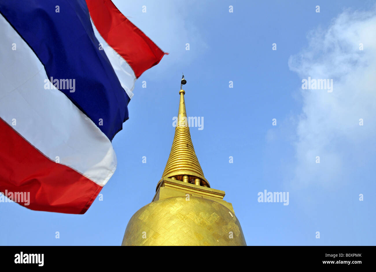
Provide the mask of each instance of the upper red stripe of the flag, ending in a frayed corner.
{"label": "upper red stripe of the flag, ending in a frayed corner", "polygon": [[86,4],[99,34],[127,61],[136,78],[168,54],[132,24],[111,0],[86,0]]}

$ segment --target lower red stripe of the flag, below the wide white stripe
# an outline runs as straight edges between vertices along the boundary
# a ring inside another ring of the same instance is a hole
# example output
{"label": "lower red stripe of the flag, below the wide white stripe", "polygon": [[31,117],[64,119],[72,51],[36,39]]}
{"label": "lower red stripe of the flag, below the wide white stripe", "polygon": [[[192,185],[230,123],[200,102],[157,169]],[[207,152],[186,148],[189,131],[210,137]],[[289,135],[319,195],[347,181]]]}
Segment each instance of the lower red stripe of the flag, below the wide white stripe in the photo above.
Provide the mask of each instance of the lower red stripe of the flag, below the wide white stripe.
{"label": "lower red stripe of the flag, below the wide white stripe", "polygon": [[26,208],[84,214],[102,189],[70,167],[45,157],[1,118],[0,150],[0,191],[30,193],[28,206],[19,203]]}

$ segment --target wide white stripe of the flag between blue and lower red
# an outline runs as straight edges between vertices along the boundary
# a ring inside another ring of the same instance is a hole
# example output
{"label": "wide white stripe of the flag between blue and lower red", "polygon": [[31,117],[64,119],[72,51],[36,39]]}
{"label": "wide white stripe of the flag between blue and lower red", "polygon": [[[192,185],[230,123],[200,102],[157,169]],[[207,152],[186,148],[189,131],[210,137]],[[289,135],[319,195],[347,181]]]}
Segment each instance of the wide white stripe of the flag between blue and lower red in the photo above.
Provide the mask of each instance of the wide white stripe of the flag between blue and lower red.
{"label": "wide white stripe of the flag between blue and lower red", "polygon": [[2,15],[0,37],[0,117],[49,159],[58,156],[60,164],[105,185],[116,168],[109,139],[64,93],[44,89],[44,66]]}

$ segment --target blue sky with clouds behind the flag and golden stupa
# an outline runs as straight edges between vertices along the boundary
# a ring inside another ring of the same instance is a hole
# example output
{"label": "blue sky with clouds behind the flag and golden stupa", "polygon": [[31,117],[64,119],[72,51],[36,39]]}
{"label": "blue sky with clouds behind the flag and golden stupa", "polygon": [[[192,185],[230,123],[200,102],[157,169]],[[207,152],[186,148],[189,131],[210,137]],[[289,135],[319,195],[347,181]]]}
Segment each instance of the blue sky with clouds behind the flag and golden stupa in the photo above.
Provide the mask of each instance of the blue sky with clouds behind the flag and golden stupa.
{"label": "blue sky with clouds behind the flag and golden stupa", "polygon": [[[374,2],[114,3],[170,54],[136,81],[103,201],[84,215],[0,203],[0,245],[120,245],[162,176],[182,72],[187,114],[204,119],[191,127],[197,157],[248,245],[376,244]],[[333,92],[303,90],[309,76],[334,79]],[[265,189],[289,192],[289,205],[259,203]]]}

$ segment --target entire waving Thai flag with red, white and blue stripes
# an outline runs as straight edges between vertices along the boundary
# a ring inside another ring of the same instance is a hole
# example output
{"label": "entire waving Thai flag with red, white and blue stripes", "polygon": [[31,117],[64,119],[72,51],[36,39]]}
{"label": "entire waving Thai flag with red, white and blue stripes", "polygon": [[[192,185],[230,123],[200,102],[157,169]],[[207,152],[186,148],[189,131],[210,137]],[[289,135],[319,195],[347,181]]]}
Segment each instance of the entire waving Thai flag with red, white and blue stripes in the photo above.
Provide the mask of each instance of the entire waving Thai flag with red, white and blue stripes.
{"label": "entire waving Thai flag with red, white and blue stripes", "polygon": [[110,0],[0,0],[0,191],[85,213],[135,80],[164,54]]}

